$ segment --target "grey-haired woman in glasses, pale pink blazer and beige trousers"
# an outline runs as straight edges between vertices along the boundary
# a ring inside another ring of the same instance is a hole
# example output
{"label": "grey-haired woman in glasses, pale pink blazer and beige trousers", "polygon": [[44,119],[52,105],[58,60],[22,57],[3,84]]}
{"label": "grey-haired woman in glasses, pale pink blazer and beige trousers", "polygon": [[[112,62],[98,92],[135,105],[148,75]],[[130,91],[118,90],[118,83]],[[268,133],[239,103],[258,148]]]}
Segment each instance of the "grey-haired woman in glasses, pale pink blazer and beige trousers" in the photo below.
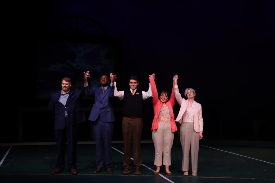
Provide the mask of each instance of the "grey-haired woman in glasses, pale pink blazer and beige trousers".
{"label": "grey-haired woman in glasses, pale pink blazer and beige trousers", "polygon": [[196,91],[192,88],[185,89],[184,95],[187,99],[182,99],[178,91],[178,75],[175,75],[173,80],[175,83],[175,97],[178,104],[181,105],[176,121],[181,124],[182,171],[184,175],[188,175],[189,151],[191,146],[192,175],[196,176],[198,169],[199,140],[203,138],[202,133],[204,127],[201,105],[194,100]]}

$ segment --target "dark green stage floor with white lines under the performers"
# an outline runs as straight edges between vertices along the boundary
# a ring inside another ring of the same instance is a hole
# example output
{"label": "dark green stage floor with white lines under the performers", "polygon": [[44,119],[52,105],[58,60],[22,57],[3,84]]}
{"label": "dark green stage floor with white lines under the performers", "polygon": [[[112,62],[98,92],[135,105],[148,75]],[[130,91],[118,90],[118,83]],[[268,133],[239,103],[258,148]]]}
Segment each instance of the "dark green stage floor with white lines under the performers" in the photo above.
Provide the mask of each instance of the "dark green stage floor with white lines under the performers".
{"label": "dark green stage floor with white lines under the performers", "polygon": [[[85,143],[85,142],[84,142]],[[95,144],[77,145],[78,175],[71,175],[68,166],[63,172],[52,175],[55,168],[56,145],[54,143],[2,144],[0,146],[0,182],[275,182],[275,149],[262,147],[200,145],[198,175],[184,176],[182,166],[182,147],[174,143],[171,150],[171,176],[165,174],[161,167],[161,175],[153,175],[154,145],[142,143],[141,175],[131,171],[123,175],[123,144],[113,143],[113,174],[106,169],[94,174]],[[9,152],[8,152],[9,151]],[[191,172],[191,164],[189,165]],[[190,174],[190,173],[189,173]]]}

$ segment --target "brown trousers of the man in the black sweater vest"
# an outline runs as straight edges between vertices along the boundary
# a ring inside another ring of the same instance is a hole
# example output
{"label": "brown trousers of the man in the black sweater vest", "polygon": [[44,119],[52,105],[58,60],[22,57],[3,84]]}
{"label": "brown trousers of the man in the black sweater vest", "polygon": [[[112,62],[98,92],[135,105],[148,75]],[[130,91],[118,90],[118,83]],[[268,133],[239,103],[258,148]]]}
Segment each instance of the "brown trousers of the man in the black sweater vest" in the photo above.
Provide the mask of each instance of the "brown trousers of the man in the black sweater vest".
{"label": "brown trousers of the man in the black sweater vest", "polygon": [[122,118],[122,135],[124,143],[123,167],[131,167],[131,144],[133,142],[134,167],[141,167],[141,133],[142,118]]}

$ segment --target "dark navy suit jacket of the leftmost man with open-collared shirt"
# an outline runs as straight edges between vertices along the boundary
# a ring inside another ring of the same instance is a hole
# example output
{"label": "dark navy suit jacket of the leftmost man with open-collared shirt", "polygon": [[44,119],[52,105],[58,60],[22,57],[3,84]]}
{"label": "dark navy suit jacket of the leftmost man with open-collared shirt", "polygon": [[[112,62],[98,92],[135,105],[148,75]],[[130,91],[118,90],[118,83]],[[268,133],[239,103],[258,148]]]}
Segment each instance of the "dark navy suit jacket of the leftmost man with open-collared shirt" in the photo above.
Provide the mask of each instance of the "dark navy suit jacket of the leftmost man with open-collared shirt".
{"label": "dark navy suit jacket of the leftmost man with open-collared shirt", "polygon": [[54,130],[61,130],[66,127],[65,110],[68,113],[70,125],[76,125],[86,121],[85,113],[80,105],[80,99],[85,95],[84,86],[81,90],[70,89],[69,97],[65,106],[58,101],[60,95],[61,90],[53,93],[49,103],[50,111],[54,111],[55,113]]}

